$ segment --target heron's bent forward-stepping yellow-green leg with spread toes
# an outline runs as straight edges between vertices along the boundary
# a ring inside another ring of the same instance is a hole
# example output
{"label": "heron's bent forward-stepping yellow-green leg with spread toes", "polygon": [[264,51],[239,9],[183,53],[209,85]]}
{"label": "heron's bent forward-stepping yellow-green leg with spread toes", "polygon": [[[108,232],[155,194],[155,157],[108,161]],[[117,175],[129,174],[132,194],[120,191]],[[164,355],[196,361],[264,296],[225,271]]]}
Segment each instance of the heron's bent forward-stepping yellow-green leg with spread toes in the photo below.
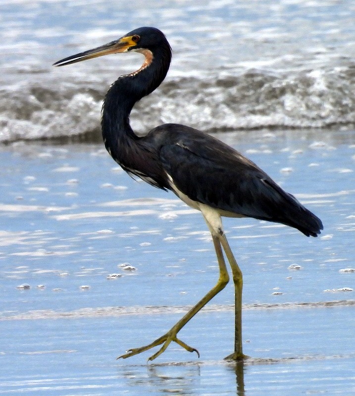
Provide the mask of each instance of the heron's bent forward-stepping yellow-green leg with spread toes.
{"label": "heron's bent forward-stepping yellow-green leg with spread toes", "polygon": [[186,323],[190,319],[192,319],[204,305],[206,305],[206,303],[211,298],[213,298],[217,293],[219,293],[222,289],[224,289],[224,287],[227,285],[229,281],[229,275],[224,261],[222,247],[219,238],[217,236],[212,235],[212,239],[213,239],[214,248],[216,250],[218,265],[219,265],[219,278],[216,285],[192,309],[190,309],[190,311],[186,315],[184,315],[166,334],[159,337],[158,339],[156,339],[151,344],[145,347],[129,349],[127,353],[119,356],[118,359],[120,357],[126,359],[127,357],[137,355],[138,353],[144,352],[148,349],[151,349],[152,347],[157,347],[158,345],[163,344],[163,346],[148,359],[148,360],[154,360],[157,356],[159,356],[161,353],[164,352],[164,350],[168,347],[168,345],[172,341],[179,344],[181,347],[184,347],[189,352],[194,352],[194,351],[197,352],[197,354],[200,356],[199,351],[197,349],[189,347],[187,344],[179,340],[176,337],[176,335],[186,325]]}

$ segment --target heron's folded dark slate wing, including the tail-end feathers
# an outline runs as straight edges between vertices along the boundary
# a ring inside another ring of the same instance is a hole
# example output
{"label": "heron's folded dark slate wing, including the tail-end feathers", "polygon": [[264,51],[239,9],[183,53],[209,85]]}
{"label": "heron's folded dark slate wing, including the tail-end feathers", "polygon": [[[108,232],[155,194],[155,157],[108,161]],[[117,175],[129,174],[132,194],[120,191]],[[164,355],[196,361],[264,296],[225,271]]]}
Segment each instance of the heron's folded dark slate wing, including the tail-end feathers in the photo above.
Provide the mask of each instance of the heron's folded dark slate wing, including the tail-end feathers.
{"label": "heron's folded dark slate wing, including the tail-end feathers", "polygon": [[306,235],[319,233],[316,216],[252,161],[217,139],[190,129],[175,131],[174,141],[162,145],[159,156],[176,188],[194,201],[287,224]]}

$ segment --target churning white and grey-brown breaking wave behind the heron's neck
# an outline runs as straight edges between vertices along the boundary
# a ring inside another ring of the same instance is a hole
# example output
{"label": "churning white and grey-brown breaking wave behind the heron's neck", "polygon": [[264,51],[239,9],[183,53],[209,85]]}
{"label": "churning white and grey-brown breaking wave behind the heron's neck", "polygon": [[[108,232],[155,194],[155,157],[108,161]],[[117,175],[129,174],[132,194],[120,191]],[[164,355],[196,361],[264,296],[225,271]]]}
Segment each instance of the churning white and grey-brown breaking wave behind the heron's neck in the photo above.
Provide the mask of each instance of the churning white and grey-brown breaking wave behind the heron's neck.
{"label": "churning white and grey-brown breaking wave behind the heron's neck", "polygon": [[[32,70],[2,85],[0,142],[100,137],[102,99],[112,70],[60,74]],[[131,114],[145,134],[161,123],[206,132],[258,128],[325,128],[355,122],[355,64],[274,72],[220,69],[204,76],[167,77]]]}

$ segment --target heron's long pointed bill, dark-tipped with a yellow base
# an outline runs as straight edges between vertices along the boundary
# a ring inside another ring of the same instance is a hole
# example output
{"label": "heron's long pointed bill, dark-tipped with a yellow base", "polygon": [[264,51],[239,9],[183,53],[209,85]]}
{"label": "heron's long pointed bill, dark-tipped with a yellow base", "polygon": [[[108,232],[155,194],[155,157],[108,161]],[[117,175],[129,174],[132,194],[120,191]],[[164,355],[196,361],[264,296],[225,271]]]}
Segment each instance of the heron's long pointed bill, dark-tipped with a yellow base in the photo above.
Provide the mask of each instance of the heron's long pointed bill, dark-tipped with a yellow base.
{"label": "heron's long pointed bill, dark-tipped with a yellow base", "polygon": [[84,52],[77,53],[75,55],[68,56],[67,58],[60,59],[53,63],[53,66],[65,66],[72,63],[81,62],[82,60],[97,58],[98,56],[108,55],[110,53],[125,52],[131,47],[136,46],[136,43],[132,40],[132,36],[122,37],[116,41],[111,41],[103,46],[89,49]]}

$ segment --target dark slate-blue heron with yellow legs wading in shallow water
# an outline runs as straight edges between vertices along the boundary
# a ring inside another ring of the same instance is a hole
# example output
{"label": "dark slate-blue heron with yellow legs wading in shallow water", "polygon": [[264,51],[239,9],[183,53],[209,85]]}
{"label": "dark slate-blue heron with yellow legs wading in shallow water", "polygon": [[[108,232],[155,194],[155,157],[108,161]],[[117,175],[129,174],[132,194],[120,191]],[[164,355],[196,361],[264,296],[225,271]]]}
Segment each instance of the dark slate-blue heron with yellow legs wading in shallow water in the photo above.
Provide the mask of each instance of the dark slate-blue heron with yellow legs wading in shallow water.
{"label": "dark slate-blue heron with yellow legs wading in shallow water", "polygon": [[252,217],[281,223],[307,237],[319,235],[322,222],[253,161],[207,133],[173,123],[159,125],[145,136],[134,133],[129,120],[133,106],[162,83],[172,59],[172,49],[159,29],[141,27],[132,30],[118,40],[68,56],[53,65],[64,66],[102,55],[133,51],[144,55],[142,66],[118,77],[103,100],[101,131],[105,148],[131,176],[158,189],[171,191],[187,205],[201,211],[212,237],[219,277],[215,286],[169,331],[149,345],[126,350],[118,358],[160,347],[148,359],[153,360],[171,342],[200,356],[196,348],[181,341],[177,335],[229,282],[225,255],[235,289],[234,351],[226,359],[247,359],[242,345],[243,274],[227,241],[221,217]]}

